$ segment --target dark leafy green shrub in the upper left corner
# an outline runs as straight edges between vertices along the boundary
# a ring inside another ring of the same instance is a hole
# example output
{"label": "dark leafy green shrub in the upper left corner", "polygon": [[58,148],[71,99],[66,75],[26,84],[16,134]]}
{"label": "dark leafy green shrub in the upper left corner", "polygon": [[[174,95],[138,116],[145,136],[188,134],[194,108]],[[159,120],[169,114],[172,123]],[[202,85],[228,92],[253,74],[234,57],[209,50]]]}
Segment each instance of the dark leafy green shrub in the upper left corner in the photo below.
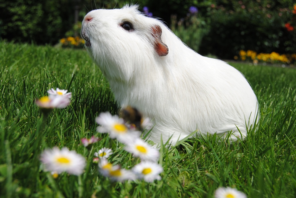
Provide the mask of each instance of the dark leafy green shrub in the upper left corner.
{"label": "dark leafy green shrub in the upper left corner", "polygon": [[72,26],[71,10],[67,0],[2,1],[0,36],[18,42],[56,43]]}

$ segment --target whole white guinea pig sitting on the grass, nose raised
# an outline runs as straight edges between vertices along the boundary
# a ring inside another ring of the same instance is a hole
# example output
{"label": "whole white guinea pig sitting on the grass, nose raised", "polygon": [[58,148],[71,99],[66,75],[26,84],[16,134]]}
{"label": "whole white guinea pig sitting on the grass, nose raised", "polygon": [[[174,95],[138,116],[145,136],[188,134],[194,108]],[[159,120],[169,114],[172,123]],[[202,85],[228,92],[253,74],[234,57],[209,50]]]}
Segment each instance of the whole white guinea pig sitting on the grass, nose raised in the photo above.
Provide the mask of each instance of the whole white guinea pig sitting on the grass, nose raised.
{"label": "whole white guinea pig sitting on the grass, nose raised", "polygon": [[195,130],[232,131],[234,141],[260,117],[257,97],[238,70],[194,52],[138,6],[92,10],[81,35],[119,105],[152,119],[155,143],[162,136],[174,145]]}

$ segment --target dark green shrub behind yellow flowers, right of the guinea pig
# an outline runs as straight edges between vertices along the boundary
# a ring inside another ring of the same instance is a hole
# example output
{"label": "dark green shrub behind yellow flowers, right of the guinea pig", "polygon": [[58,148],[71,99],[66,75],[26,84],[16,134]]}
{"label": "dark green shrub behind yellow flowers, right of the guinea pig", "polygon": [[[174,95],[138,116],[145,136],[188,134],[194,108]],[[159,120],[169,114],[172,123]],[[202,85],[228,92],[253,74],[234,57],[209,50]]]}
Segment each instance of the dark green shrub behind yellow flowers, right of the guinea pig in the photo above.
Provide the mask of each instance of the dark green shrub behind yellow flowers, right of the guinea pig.
{"label": "dark green shrub behind yellow flowers, right of the guinea pig", "polygon": [[232,58],[239,50],[294,53],[295,32],[285,24],[293,17],[292,2],[216,1],[207,8],[209,34],[202,40],[200,53]]}

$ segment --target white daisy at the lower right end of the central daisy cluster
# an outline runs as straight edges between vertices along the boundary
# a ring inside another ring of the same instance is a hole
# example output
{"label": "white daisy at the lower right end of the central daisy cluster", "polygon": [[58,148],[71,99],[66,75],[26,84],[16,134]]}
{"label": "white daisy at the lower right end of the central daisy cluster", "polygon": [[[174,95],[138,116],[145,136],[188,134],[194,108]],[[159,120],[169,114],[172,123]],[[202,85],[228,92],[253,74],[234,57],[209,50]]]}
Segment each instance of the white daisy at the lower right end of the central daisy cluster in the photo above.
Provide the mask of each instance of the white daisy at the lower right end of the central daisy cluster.
{"label": "white daisy at the lower right end of the central daisy cluster", "polygon": [[146,182],[153,182],[154,180],[161,180],[162,167],[154,162],[143,161],[132,169],[139,178],[143,178]]}

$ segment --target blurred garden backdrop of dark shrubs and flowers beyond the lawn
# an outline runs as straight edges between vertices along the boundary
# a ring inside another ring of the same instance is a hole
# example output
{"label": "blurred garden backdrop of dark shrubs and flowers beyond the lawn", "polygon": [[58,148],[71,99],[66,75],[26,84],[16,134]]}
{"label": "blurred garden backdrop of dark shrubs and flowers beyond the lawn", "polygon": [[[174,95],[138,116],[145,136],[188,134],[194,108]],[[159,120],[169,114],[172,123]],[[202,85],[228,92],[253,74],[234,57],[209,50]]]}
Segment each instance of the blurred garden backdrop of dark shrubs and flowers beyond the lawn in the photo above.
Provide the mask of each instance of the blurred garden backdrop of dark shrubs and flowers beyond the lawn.
{"label": "blurred garden backdrop of dark shrubs and flowers beyond the lawn", "polygon": [[[5,41],[83,48],[81,21],[93,9],[121,8],[123,0],[9,0],[0,2]],[[296,2],[291,0],[138,0],[198,53],[254,63],[296,60]]]}

